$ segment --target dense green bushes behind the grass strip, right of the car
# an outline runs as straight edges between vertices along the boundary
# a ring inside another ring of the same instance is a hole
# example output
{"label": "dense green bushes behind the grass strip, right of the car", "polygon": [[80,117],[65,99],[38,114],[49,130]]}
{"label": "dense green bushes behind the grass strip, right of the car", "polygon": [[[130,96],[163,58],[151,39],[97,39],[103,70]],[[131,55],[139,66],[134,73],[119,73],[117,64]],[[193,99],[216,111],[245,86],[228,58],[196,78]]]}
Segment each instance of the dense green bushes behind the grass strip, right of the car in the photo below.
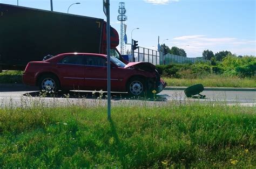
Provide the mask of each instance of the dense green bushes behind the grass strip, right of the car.
{"label": "dense green bushes behind the grass strip, right of the car", "polygon": [[253,56],[237,57],[228,54],[223,62],[197,62],[196,64],[158,65],[158,72],[162,76],[184,79],[204,78],[210,74],[227,77],[251,78],[256,72],[256,58]]}

